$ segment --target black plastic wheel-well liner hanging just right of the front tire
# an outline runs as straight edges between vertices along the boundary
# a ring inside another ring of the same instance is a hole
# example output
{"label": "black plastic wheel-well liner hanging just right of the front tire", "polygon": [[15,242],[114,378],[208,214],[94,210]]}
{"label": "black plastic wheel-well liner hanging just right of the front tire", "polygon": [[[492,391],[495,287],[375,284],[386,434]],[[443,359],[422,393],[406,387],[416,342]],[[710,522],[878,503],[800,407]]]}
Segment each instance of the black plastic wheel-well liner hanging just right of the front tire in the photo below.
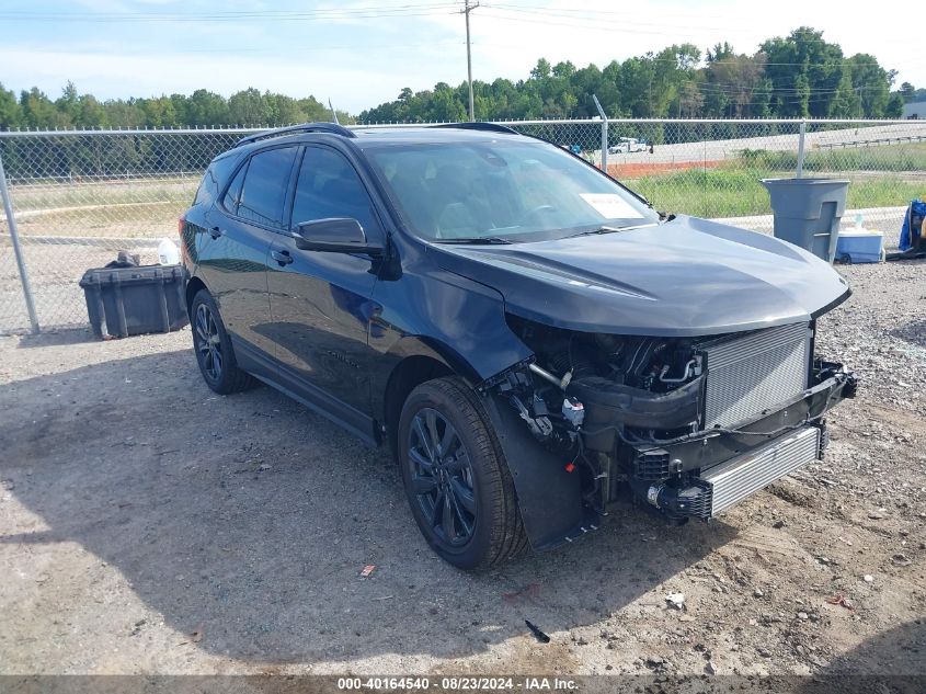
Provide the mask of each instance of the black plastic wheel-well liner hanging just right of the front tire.
{"label": "black plastic wheel-well liner hanging just right of the front tire", "polygon": [[540,445],[504,401],[491,395],[482,401],[505,454],[530,546],[552,549],[595,530],[599,519],[584,508],[579,471],[567,471],[569,460]]}

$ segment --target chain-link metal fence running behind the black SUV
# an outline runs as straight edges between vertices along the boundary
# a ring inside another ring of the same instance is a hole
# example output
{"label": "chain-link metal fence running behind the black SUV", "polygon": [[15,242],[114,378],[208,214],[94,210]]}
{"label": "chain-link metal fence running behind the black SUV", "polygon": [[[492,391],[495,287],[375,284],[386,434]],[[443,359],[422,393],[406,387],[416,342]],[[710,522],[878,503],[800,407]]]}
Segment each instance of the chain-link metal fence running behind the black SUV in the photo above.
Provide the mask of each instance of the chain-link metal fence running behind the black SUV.
{"label": "chain-link metal fence running behind the black SUV", "polygon": [[[503,123],[601,167],[661,211],[770,232],[765,178],[848,179],[848,224],[896,244],[926,197],[926,122],[523,121]],[[397,127],[356,126],[356,127]],[[402,126],[404,127],[404,126]],[[0,133],[19,250],[43,329],[87,322],[78,281],[118,250],[157,262],[209,161],[253,128]],[[845,218],[844,218],[845,219]],[[0,332],[31,329],[16,248],[0,218]]]}

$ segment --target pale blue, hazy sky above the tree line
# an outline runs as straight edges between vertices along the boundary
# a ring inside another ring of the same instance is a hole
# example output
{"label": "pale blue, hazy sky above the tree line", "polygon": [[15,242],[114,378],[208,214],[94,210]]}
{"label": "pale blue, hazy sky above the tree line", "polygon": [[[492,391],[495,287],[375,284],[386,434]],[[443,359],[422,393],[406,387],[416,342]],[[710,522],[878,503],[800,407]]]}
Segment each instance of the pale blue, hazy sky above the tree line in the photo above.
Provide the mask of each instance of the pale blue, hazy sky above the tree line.
{"label": "pale blue, hazy sky above the tree line", "polygon": [[[455,0],[0,0],[0,82],[53,99],[68,80],[99,99],[249,87],[313,94],[358,113],[437,82],[466,80]],[[540,57],[604,67],[673,43],[741,53],[798,26],[846,55],[870,53],[926,87],[924,43],[905,18],[919,2],[883,0],[480,0],[471,16],[473,79],[525,79]]]}

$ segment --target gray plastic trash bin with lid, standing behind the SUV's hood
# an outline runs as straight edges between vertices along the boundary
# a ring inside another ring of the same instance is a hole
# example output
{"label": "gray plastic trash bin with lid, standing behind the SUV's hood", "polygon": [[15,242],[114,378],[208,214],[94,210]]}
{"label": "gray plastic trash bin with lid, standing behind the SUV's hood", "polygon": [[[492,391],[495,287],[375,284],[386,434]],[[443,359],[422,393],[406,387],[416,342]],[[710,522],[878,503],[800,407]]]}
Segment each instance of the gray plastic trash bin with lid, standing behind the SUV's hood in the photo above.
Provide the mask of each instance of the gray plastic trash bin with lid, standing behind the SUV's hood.
{"label": "gray plastic trash bin with lid, standing behind the SUV's hood", "polygon": [[809,250],[827,262],[836,255],[839,219],[846,211],[848,181],[763,179],[771,197],[775,238]]}

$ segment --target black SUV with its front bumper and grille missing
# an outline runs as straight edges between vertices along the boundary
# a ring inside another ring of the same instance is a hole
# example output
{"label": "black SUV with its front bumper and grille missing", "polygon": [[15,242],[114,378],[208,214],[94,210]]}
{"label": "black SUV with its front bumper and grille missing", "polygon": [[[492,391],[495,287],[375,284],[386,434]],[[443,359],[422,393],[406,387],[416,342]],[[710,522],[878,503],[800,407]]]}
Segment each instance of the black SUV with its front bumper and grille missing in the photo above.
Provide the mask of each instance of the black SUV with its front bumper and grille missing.
{"label": "black SUV with its front bumper and grille missing", "polygon": [[849,295],[825,262],[498,125],[245,137],[180,228],[208,386],[256,378],[389,445],[462,568],[622,494],[708,520],[821,457],[855,389],[814,354]]}

